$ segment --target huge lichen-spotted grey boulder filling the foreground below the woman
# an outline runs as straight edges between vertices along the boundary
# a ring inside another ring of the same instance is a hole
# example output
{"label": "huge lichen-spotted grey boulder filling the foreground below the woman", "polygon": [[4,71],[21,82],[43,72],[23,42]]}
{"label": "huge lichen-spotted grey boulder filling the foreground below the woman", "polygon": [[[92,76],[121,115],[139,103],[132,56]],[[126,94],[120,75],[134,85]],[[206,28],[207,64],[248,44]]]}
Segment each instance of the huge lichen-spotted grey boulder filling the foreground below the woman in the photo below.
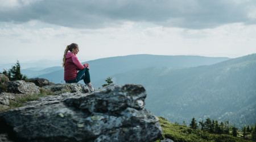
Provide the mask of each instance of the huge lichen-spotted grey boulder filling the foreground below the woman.
{"label": "huge lichen-spotted grey boulder filling the foreground below the woman", "polygon": [[163,130],[143,108],[145,98],[144,87],[131,84],[46,96],[0,113],[0,134],[14,141],[154,141]]}

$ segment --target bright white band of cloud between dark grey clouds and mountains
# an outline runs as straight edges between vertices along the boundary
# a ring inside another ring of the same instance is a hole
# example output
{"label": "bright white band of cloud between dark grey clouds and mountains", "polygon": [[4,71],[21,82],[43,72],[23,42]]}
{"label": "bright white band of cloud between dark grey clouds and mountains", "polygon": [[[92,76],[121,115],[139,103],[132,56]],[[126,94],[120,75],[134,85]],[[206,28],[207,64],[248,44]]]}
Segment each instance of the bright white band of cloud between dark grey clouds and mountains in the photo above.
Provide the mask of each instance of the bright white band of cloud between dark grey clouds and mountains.
{"label": "bright white band of cloud between dark grey clouds and mountains", "polygon": [[[71,43],[80,46],[81,61],[101,57],[152,54],[239,57],[256,53],[256,26],[242,23],[188,30],[150,23],[77,29],[35,22],[0,28],[0,60],[60,60]],[[145,26],[147,25],[147,26]],[[39,27],[39,28],[35,28]]]}

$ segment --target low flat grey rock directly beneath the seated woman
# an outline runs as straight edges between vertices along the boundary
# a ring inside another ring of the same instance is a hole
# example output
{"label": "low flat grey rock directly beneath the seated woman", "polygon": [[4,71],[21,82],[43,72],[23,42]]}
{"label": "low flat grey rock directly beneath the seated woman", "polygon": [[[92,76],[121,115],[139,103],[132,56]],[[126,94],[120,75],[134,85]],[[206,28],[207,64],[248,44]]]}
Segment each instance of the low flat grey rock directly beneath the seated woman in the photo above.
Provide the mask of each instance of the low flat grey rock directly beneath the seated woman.
{"label": "low flat grey rock directly beneath the seated woman", "polygon": [[65,84],[52,84],[43,86],[44,89],[53,91],[53,94],[61,94],[64,92],[70,93],[89,93],[88,87],[82,85],[81,83],[65,83]]}

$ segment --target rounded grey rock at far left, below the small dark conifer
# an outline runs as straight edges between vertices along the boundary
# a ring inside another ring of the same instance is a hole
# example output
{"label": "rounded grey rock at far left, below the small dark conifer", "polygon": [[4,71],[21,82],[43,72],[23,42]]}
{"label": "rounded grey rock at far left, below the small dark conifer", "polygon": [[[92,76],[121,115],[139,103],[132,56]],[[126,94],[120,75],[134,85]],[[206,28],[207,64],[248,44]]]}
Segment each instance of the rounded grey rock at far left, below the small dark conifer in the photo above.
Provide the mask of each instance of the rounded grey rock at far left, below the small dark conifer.
{"label": "rounded grey rock at far left, below the small dark conifer", "polygon": [[7,81],[4,83],[7,87],[8,93],[18,93],[18,94],[38,94],[40,89],[35,83],[25,82],[23,80],[17,81]]}

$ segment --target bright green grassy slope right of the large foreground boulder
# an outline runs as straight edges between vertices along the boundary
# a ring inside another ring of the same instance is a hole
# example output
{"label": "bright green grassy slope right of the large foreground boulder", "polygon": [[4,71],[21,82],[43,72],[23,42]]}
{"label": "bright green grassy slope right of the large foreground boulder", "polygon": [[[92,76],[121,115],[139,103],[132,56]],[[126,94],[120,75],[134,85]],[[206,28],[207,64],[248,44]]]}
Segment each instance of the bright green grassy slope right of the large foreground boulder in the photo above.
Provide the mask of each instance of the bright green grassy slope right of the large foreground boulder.
{"label": "bright green grassy slope right of the large foreground boulder", "polygon": [[193,130],[187,126],[173,124],[164,118],[159,118],[163,128],[163,136],[156,141],[168,138],[174,141],[247,141],[231,135],[216,135],[199,129]]}

